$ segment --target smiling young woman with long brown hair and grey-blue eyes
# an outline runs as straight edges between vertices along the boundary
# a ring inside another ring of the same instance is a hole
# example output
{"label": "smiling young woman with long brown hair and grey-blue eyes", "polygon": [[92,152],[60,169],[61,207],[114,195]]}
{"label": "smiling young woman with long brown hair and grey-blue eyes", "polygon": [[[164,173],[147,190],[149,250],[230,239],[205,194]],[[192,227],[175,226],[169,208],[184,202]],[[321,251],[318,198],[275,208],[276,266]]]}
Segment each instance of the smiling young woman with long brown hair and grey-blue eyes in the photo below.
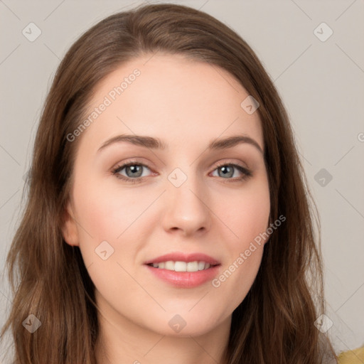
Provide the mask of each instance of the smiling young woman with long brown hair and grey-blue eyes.
{"label": "smiling young woman with long brown hair and grey-blue eyes", "polygon": [[308,198],[240,36],[186,6],[105,18],[38,127],[7,259],[15,362],[336,362]]}

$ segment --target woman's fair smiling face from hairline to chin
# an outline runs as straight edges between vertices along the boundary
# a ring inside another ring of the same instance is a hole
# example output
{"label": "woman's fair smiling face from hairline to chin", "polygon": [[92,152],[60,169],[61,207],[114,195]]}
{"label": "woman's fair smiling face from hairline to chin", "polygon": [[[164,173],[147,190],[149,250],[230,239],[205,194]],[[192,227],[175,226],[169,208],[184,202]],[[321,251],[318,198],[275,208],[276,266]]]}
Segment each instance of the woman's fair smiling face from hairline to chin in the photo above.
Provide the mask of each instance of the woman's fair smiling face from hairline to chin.
{"label": "woman's fair smiling face from hairline to chin", "polygon": [[245,298],[270,208],[248,96],[215,65],[157,53],[102,80],[88,122],[68,135],[79,144],[63,235],[114,324],[196,336]]}

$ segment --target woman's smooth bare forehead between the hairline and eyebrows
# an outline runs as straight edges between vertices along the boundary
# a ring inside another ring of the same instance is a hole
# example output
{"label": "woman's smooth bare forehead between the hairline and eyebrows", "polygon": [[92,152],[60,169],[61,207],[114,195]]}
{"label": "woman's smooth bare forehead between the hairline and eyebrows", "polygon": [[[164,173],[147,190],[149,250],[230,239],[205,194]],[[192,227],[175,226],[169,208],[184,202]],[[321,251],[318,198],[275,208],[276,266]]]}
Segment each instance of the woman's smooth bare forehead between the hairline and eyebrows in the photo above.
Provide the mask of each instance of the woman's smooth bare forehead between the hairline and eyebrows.
{"label": "woman's smooth bare forehead between the hairline and eyebrows", "polygon": [[169,146],[247,134],[264,149],[258,113],[247,114],[240,106],[248,96],[235,77],[216,65],[182,55],[144,55],[97,85],[87,116],[101,104],[107,107],[94,115],[83,137],[100,145],[117,134],[163,135]]}

